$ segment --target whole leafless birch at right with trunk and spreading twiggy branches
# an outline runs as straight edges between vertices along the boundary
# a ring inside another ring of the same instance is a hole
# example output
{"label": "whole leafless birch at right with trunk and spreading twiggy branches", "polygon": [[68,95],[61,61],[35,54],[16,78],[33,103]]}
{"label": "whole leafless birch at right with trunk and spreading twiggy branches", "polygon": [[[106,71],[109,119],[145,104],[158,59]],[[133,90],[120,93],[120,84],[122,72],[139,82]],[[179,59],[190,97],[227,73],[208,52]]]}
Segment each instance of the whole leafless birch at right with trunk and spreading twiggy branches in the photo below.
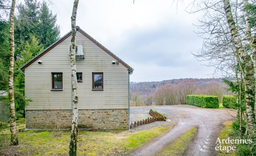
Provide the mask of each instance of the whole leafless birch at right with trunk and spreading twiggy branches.
{"label": "whole leafless birch at right with trunk and spreading twiggy branches", "polygon": [[[247,1],[236,0],[230,4],[230,0],[195,0],[192,6],[196,6],[197,9],[191,12],[204,12],[204,17],[199,20],[201,25],[198,26],[201,30],[198,34],[204,38],[204,46],[195,56],[208,61],[207,66],[214,66],[225,73],[226,77],[235,77],[236,66],[239,65],[241,73],[238,74],[241,74],[241,79],[244,80],[247,128],[252,126],[253,129],[255,63],[251,43],[254,41],[248,39],[250,21],[244,23],[248,17],[243,5],[246,6]],[[246,45],[251,45],[251,48],[245,48]]]}

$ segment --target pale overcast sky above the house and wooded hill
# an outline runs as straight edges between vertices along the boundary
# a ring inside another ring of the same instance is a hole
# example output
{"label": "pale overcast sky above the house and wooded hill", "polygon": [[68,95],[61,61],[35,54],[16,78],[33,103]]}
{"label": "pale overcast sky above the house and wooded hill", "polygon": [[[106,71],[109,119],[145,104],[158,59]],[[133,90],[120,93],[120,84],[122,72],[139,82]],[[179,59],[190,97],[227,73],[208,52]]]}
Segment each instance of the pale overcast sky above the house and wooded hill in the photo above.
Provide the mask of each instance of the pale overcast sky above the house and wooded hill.
{"label": "pale overcast sky above the house and wooded hill", "polygon": [[[61,36],[71,30],[73,0],[55,0]],[[193,57],[202,47],[193,31],[201,14],[172,0],[80,0],[77,26],[134,68],[131,81],[211,78],[213,68]]]}

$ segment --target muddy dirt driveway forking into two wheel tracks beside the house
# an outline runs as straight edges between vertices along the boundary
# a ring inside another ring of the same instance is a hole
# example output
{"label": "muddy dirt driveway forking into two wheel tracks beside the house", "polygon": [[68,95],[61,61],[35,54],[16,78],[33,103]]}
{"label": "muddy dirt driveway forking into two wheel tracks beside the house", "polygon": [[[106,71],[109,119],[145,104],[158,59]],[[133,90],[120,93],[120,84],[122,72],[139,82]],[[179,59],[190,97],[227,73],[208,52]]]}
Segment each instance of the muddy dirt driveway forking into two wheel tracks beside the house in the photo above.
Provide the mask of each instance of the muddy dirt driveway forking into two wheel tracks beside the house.
{"label": "muddy dirt driveway forking into two wheel tracks beside the house", "polygon": [[155,138],[129,156],[154,156],[167,144],[194,126],[198,126],[198,135],[187,148],[185,156],[215,156],[215,142],[223,128],[222,123],[231,120],[236,112],[231,109],[199,108],[192,105],[172,105],[159,107],[133,107],[131,114],[141,114],[146,110],[159,111],[167,118],[175,118],[176,124],[166,134]]}

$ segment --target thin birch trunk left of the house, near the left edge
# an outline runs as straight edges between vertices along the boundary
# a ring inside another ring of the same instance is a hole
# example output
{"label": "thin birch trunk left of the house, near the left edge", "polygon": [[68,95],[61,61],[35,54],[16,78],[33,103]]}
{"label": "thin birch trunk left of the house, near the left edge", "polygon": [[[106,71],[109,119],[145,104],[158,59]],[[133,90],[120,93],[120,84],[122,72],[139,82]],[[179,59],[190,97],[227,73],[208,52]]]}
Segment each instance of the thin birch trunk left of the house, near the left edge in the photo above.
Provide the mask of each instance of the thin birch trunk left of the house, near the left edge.
{"label": "thin birch trunk left of the house, near the left edge", "polygon": [[15,0],[12,0],[10,12],[10,58],[9,58],[9,100],[10,100],[10,130],[11,130],[11,145],[18,145],[18,136],[15,119],[15,101],[14,101],[14,86],[13,86],[13,68],[14,68],[14,9]]}

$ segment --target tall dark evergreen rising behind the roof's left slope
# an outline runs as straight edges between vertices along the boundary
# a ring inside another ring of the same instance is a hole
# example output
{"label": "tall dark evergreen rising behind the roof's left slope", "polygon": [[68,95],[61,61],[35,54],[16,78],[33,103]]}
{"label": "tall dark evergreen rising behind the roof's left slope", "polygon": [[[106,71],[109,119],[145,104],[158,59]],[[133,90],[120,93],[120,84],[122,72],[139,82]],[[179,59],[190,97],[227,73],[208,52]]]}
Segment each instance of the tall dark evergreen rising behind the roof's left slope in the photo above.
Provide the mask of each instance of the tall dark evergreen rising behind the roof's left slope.
{"label": "tall dark evergreen rising behind the roof's left slope", "polygon": [[18,18],[15,20],[15,60],[24,50],[26,41],[35,36],[39,43],[48,47],[60,37],[60,28],[56,24],[57,16],[53,15],[45,1],[25,0],[18,5]]}

